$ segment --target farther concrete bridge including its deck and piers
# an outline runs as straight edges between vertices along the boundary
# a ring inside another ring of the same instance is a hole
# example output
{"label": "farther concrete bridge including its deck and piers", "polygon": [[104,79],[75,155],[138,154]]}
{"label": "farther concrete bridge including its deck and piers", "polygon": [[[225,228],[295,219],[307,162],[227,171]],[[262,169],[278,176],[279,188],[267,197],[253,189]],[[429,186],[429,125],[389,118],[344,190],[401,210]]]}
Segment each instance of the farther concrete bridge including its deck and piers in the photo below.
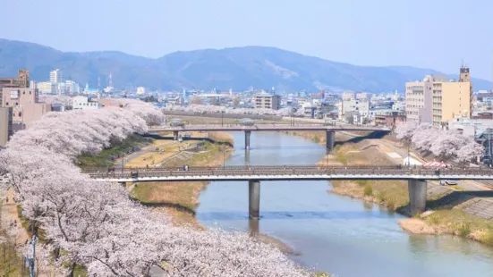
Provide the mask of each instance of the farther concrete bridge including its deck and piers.
{"label": "farther concrete bridge including its deck and piers", "polygon": [[245,126],[242,124],[207,124],[207,125],[183,125],[183,126],[155,126],[149,132],[169,131],[173,132],[177,139],[181,131],[244,131],[245,149],[250,149],[250,136],[252,131],[325,131],[327,136],[326,147],[329,150],[334,148],[334,134],[337,130],[345,131],[390,131],[387,127],[378,126],[359,126],[359,125],[324,125],[324,124],[257,124]]}

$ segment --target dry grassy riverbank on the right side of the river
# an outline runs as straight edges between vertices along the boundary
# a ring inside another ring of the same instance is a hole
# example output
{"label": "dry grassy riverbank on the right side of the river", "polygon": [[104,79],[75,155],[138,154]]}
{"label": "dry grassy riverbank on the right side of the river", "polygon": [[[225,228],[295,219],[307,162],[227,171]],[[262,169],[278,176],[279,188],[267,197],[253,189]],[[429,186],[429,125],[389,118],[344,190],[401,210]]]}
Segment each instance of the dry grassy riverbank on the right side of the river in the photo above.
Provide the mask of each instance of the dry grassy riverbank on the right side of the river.
{"label": "dry grassy riverbank on the right side of the river", "polygon": [[[293,135],[325,144],[323,133],[292,132]],[[395,144],[383,139],[355,139],[344,132],[336,133],[336,147],[319,164],[402,164]],[[414,155],[416,156],[416,155]],[[391,212],[411,216],[408,213],[409,194],[404,180],[335,180],[329,193],[359,198],[385,206]],[[473,239],[493,246],[493,222],[473,214],[467,214],[478,201],[460,186],[442,187],[436,181],[428,182],[427,206],[429,212],[399,221],[404,231],[413,234],[449,234]],[[491,203],[493,205],[493,202]],[[484,205],[483,205],[484,206]],[[422,217],[421,217],[422,216]]]}

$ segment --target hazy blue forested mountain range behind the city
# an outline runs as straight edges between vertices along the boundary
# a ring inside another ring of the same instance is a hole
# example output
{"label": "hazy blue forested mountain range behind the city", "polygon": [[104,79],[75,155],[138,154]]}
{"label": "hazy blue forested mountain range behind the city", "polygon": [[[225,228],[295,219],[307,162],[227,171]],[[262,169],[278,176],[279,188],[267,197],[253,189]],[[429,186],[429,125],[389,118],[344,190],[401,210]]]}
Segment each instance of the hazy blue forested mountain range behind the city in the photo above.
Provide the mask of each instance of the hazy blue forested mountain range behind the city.
{"label": "hazy blue forested mountain range behind the city", "polygon": [[[252,86],[276,87],[277,91],[318,88],[403,91],[406,81],[440,73],[409,66],[336,63],[262,46],[176,52],[149,59],[115,51],[62,52],[33,43],[0,39],[0,76],[15,76],[20,68],[29,69],[30,78],[37,81],[47,80],[49,71],[60,68],[65,78],[76,80],[82,86],[89,82],[90,87],[96,86],[98,76],[101,85],[106,85],[111,72],[118,88],[242,90]],[[473,79],[473,82],[474,89],[491,88],[488,80]]]}

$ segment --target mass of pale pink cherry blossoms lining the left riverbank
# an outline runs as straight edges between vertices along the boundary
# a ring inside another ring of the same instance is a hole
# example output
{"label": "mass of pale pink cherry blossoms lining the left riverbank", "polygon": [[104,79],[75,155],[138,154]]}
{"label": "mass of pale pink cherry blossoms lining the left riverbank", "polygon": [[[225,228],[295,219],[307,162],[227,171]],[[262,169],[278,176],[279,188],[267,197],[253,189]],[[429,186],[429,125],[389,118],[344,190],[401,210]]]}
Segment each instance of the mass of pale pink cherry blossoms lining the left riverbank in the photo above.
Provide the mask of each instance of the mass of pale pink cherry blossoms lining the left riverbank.
{"label": "mass of pale pink cherry blossoms lining the left riverbank", "polygon": [[96,182],[73,164],[162,118],[133,100],[123,108],[48,113],[0,151],[0,173],[31,226],[45,231],[59,270],[72,276],[83,264],[90,276],[149,276],[152,267],[166,276],[310,276],[248,234],[175,227],[119,185]]}

